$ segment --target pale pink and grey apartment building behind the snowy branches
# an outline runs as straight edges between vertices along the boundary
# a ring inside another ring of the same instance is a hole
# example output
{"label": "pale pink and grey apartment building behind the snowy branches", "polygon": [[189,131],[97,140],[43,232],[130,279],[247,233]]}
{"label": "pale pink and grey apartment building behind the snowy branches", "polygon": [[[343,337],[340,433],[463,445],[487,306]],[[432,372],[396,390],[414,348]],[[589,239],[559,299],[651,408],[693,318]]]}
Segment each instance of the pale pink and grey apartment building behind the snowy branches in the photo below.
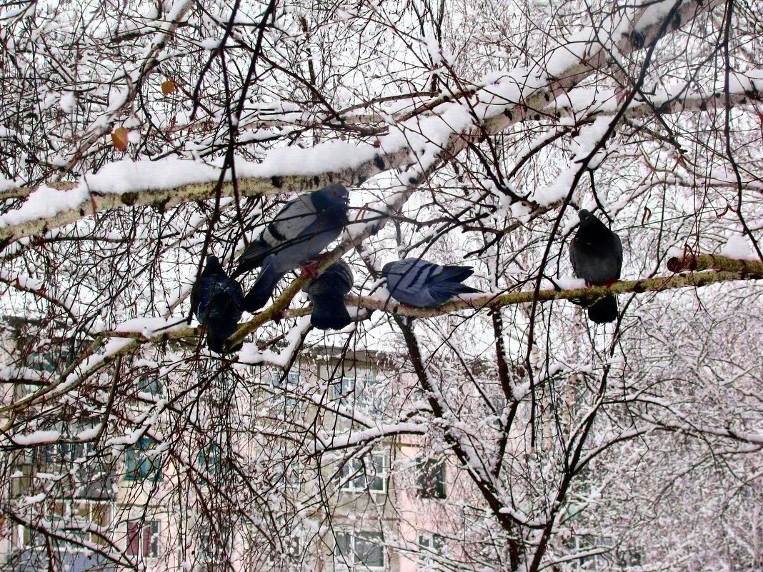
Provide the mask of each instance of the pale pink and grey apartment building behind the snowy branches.
{"label": "pale pink and grey apartment building behind the snowy branches", "polygon": [[[72,354],[61,348],[72,341],[51,339],[49,355],[24,354],[27,323],[5,320],[3,370],[30,381],[31,371],[63,371]],[[410,436],[334,446],[359,431],[358,420],[383,423],[414,390],[393,362],[381,352],[320,348],[287,374],[211,374],[217,385],[179,407],[188,419],[177,426],[156,412],[182,402],[189,377],[161,374],[150,360],[130,364],[134,385],[114,381],[118,399],[101,391],[103,407],[64,403],[51,419],[34,406],[34,431],[2,437],[0,570],[437,570],[456,551],[449,538],[459,518],[447,500],[463,486],[446,452],[423,456],[423,438]],[[40,387],[3,386],[3,404]],[[240,387],[251,407],[238,402]],[[237,419],[222,423],[233,410]],[[129,423],[119,421],[121,435],[110,426],[106,438],[110,416]],[[296,446],[292,429],[315,439],[301,435]],[[304,454],[319,442],[325,451]],[[251,510],[242,499],[253,500]],[[262,506],[269,514],[258,513]]]}

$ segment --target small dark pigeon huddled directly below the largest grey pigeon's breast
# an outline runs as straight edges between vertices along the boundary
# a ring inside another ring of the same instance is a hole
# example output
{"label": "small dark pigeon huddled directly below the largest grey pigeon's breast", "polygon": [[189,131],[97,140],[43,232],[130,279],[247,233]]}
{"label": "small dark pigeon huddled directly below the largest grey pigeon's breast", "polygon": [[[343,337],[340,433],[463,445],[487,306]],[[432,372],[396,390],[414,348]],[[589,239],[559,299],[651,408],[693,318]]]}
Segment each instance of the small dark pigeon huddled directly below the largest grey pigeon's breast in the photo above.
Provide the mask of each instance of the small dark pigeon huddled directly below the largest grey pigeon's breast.
{"label": "small dark pigeon huddled directly below the largest grey pigeon's breast", "polygon": [[313,303],[310,323],[317,329],[342,329],[352,322],[344,305],[344,295],[353,288],[353,271],[340,260],[304,287]]}

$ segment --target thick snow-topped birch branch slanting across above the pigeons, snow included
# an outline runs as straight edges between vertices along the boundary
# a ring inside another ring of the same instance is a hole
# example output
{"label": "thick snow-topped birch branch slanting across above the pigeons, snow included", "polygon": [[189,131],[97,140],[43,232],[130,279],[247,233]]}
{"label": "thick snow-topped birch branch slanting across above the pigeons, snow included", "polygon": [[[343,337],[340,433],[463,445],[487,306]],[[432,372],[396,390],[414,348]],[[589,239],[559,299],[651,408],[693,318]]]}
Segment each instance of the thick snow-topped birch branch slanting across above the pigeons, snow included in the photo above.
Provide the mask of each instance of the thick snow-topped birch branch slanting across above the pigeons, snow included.
{"label": "thick snow-topped birch branch slanting across above the pigeons, snow included", "polygon": [[[611,50],[630,53],[651,47],[668,31],[666,26],[681,27],[717,4],[720,0],[645,3],[634,9],[631,18],[603,24],[613,27],[610,40],[589,34],[553,50],[535,68],[514,69],[482,88],[468,90],[458,101],[450,95],[434,98],[423,104],[423,111],[407,112],[405,121],[391,126],[390,133],[378,137],[373,145],[330,142],[311,149],[273,149],[261,163],[237,162],[237,187],[231,182],[219,184],[220,171],[214,165],[163,159],[112,163],[95,175],[84,176],[79,184],[41,185],[23,193],[5,191],[0,200],[27,194],[27,202],[0,217],[0,244],[114,208],[154,205],[166,209],[218,194],[302,191],[337,180],[361,184],[379,172],[411,164],[419,165],[419,175],[407,178],[415,187],[469,141],[532,118],[591,73],[608,66]],[[424,112],[429,115],[420,115]]]}

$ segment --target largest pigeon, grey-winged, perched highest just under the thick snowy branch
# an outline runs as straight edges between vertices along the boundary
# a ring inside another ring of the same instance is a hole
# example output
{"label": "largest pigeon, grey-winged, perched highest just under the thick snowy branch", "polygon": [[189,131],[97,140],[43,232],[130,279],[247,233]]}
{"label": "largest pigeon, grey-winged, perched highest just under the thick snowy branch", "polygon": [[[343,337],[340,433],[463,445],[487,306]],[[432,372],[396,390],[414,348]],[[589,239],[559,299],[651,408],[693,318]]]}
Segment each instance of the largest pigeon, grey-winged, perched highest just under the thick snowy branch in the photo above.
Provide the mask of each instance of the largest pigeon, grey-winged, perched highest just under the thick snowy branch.
{"label": "largest pigeon, grey-winged, perched highest just under the thick snowy branch", "polygon": [[347,189],[340,183],[289,201],[259,238],[246,247],[233,278],[258,266],[262,270],[243,300],[249,312],[266,304],[275,284],[326,248],[347,224]]}

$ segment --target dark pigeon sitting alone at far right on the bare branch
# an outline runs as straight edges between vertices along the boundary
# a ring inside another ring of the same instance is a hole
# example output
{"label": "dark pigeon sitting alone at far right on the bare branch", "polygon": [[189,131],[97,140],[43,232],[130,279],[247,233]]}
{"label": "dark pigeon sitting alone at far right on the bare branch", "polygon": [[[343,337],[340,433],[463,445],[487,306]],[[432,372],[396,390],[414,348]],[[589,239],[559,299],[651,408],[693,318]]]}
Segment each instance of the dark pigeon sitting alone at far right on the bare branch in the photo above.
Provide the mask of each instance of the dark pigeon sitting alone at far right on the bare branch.
{"label": "dark pigeon sitting alone at far right on the bare branch", "polygon": [[[589,286],[608,286],[620,279],[620,269],[623,268],[620,236],[588,210],[581,210],[578,216],[580,227],[570,243],[572,268]],[[588,317],[595,323],[614,322],[617,313],[614,296],[607,296],[588,307]]]}

